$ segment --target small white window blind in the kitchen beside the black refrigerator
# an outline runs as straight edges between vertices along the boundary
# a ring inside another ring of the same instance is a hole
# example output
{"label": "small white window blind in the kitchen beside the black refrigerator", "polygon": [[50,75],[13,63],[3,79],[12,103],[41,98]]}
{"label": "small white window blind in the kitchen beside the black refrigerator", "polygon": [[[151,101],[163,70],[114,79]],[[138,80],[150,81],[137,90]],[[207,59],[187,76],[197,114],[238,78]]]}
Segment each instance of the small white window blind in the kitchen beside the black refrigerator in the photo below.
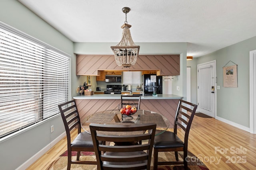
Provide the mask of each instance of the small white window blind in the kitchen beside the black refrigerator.
{"label": "small white window blind in the kitchen beside the black refrigerator", "polygon": [[141,84],[141,72],[140,71],[124,71],[123,72],[123,84],[138,85]]}

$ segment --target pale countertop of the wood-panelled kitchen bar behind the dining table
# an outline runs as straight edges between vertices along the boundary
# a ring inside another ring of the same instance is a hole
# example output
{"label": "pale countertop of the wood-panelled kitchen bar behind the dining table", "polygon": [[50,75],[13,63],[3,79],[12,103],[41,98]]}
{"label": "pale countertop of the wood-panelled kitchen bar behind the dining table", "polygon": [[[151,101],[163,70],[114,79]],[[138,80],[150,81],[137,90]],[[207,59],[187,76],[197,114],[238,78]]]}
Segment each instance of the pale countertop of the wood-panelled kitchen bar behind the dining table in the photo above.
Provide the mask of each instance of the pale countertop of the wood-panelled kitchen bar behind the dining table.
{"label": "pale countertop of the wood-panelled kitchen bar behind the dining table", "polygon": [[[73,99],[121,99],[121,94],[94,94],[92,96],[74,96]],[[158,96],[152,96],[146,94],[146,96],[141,96],[141,100],[161,100],[161,99],[182,99],[182,96],[177,96],[174,94],[158,94]]]}

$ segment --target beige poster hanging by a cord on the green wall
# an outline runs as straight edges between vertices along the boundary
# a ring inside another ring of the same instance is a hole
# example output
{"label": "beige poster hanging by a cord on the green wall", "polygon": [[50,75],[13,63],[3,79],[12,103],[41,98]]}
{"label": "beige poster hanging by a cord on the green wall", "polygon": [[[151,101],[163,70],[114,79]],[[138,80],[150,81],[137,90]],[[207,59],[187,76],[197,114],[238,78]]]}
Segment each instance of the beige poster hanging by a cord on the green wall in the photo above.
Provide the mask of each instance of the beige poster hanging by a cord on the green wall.
{"label": "beige poster hanging by a cord on the green wall", "polygon": [[223,86],[238,87],[237,85],[237,65],[223,67]]}

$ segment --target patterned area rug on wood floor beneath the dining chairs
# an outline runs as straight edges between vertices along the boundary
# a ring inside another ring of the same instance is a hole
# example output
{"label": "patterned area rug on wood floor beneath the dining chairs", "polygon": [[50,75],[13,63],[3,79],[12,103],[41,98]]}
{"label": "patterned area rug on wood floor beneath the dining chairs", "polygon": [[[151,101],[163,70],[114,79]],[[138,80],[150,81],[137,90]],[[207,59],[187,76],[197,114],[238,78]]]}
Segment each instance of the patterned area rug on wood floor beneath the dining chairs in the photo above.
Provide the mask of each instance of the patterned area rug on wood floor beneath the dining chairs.
{"label": "patterned area rug on wood floor beneath the dining chairs", "polygon": [[[178,152],[179,160],[183,160],[183,152]],[[72,160],[76,159],[76,152],[72,152]],[[80,160],[96,160],[94,152],[81,152]],[[172,152],[159,152],[158,160],[173,160],[175,161],[174,153]],[[66,170],[67,169],[67,151],[61,154],[56,160],[52,162],[46,168],[46,170]],[[188,168],[190,170],[209,170],[204,163],[202,163],[194,154],[188,152]],[[96,165],[81,165],[81,164],[71,164],[71,170],[97,170]],[[150,170],[153,170],[153,156],[151,159]],[[183,165],[175,166],[158,166],[158,170],[184,170]]]}

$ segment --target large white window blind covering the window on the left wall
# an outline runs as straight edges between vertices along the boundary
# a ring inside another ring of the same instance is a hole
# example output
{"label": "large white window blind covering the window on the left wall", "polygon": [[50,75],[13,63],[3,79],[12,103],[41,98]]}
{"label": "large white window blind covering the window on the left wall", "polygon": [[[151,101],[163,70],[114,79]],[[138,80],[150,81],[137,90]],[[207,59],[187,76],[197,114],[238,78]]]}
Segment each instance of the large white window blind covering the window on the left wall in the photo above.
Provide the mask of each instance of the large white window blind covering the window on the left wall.
{"label": "large white window blind covering the window on the left wall", "polygon": [[70,56],[0,23],[0,138],[56,115]]}

